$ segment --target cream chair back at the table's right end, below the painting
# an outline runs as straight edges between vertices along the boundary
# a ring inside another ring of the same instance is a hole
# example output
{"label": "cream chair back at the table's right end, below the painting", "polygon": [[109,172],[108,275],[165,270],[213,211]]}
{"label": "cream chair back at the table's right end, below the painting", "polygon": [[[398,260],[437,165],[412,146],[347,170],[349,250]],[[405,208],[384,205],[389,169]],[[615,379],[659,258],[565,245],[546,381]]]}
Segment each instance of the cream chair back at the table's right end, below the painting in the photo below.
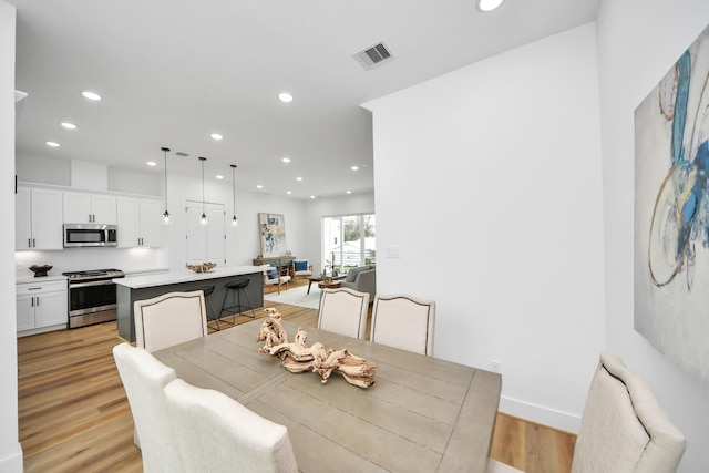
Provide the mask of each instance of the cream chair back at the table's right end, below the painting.
{"label": "cream chair back at the table's right end, below the painting", "polygon": [[670,473],[686,439],[650,387],[620,358],[603,353],[590,383],[572,473]]}

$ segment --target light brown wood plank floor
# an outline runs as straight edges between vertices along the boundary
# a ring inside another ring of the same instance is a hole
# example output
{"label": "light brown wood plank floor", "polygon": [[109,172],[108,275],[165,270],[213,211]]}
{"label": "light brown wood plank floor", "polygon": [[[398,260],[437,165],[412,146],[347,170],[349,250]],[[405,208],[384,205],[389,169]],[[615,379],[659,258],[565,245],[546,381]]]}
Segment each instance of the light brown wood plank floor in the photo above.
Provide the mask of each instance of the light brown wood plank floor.
{"label": "light brown wood plank floor", "polygon": [[[276,307],[285,319],[302,327],[317,326],[317,310],[273,302],[266,307]],[[237,323],[249,320],[237,317]],[[226,327],[222,323],[222,329]],[[142,471],[133,419],[111,351],[121,341],[115,322],[18,339],[25,473]],[[574,443],[573,434],[501,413],[491,456],[527,473],[567,473]]]}

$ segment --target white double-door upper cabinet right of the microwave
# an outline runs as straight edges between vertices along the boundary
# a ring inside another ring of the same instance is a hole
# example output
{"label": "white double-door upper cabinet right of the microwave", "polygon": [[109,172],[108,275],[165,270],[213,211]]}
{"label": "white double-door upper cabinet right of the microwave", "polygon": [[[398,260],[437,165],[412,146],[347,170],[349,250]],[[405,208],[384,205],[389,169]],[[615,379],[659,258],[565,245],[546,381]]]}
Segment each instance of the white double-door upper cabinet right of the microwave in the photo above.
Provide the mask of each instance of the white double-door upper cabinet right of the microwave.
{"label": "white double-door upper cabinet right of the microwave", "polygon": [[161,200],[119,197],[119,247],[160,246]]}

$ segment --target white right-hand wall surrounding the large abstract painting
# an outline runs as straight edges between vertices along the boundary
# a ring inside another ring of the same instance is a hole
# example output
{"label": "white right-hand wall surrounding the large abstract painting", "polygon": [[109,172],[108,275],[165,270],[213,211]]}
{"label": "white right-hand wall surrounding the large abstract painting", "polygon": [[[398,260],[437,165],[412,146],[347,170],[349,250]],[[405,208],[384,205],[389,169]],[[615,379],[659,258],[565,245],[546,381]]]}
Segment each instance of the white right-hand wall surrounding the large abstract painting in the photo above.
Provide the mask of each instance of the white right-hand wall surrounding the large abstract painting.
{"label": "white right-hand wall surrounding the large abstract painting", "polygon": [[597,21],[606,345],[648,380],[687,436],[681,472],[709,471],[709,393],[633,328],[634,111],[707,23],[706,0],[604,1]]}

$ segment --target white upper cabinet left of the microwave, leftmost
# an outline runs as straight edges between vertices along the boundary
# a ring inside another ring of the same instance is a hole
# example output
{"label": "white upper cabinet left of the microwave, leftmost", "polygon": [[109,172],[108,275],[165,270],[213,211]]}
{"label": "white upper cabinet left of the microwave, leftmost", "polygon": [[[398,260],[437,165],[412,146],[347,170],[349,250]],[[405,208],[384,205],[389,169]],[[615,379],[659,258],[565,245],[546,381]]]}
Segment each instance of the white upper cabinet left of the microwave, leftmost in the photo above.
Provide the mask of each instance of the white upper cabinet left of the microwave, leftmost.
{"label": "white upper cabinet left of the microwave, leftmost", "polygon": [[18,187],[14,248],[62,249],[62,192]]}

